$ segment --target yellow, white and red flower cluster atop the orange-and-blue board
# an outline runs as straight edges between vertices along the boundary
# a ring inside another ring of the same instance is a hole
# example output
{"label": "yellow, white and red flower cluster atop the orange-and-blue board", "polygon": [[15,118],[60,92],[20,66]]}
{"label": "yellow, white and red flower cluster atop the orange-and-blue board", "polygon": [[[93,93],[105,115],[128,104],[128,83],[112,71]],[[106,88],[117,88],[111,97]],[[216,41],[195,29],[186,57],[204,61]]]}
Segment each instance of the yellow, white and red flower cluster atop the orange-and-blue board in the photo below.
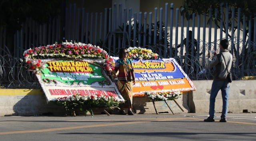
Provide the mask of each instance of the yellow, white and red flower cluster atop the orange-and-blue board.
{"label": "yellow, white and red flower cluster atop the orange-and-blue board", "polygon": [[129,47],[127,49],[127,58],[133,60],[149,60],[149,59],[159,59],[158,54],[153,53],[151,49],[145,49],[141,47]]}

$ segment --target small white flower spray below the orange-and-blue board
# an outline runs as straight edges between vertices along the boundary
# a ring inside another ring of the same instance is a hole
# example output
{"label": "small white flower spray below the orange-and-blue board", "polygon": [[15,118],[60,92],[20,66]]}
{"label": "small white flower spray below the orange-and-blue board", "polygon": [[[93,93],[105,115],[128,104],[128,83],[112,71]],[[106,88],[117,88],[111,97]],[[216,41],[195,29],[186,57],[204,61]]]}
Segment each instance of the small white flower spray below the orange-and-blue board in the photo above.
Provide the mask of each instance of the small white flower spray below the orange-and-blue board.
{"label": "small white flower spray below the orange-and-blue board", "polygon": [[180,91],[176,92],[145,92],[148,98],[155,100],[155,101],[162,101],[162,100],[174,100],[177,96],[181,95]]}

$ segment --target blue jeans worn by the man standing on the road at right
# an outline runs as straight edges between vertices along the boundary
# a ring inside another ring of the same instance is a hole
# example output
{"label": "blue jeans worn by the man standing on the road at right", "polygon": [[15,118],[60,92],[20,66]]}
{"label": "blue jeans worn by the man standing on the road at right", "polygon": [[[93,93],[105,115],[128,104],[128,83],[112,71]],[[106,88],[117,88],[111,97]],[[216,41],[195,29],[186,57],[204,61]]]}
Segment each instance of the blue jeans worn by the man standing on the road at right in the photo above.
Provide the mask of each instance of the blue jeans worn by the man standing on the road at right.
{"label": "blue jeans worn by the man standing on the road at right", "polygon": [[209,110],[210,118],[214,118],[215,98],[220,90],[221,90],[222,102],[223,102],[222,114],[220,118],[226,118],[226,115],[228,114],[229,83],[228,81],[213,80],[211,95],[210,95],[210,110]]}

